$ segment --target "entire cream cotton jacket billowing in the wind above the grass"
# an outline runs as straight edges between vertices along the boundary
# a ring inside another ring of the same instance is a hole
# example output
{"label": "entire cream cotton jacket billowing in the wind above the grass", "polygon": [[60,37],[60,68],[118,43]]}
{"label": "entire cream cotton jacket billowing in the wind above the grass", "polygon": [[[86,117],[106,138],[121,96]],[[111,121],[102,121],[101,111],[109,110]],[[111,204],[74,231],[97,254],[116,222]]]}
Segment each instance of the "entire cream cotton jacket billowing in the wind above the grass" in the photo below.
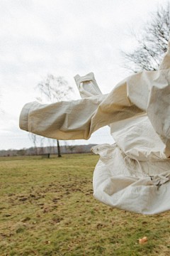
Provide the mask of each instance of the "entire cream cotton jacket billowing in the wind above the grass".
{"label": "entire cream cotton jacket billowing in the wind above the grass", "polygon": [[155,214],[170,209],[170,46],[157,71],[142,71],[102,95],[93,73],[77,75],[81,100],[23,107],[20,127],[53,139],[89,139],[110,125],[115,144],[100,160],[94,196],[108,206]]}

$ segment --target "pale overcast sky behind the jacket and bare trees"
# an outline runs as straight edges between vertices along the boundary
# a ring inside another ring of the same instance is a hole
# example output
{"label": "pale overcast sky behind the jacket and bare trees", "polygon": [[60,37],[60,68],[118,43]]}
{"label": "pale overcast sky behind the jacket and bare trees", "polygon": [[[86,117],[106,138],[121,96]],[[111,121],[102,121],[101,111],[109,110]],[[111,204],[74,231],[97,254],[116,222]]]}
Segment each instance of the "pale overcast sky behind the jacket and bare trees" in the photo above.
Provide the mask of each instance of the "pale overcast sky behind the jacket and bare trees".
{"label": "pale overcast sky behind the jacket and bare trees", "polygon": [[[130,29],[140,31],[164,0],[0,0],[0,150],[32,146],[18,127],[23,105],[38,97],[35,86],[48,73],[64,76],[79,92],[74,75],[94,72],[103,93],[130,75],[120,49],[133,48]],[[108,127],[89,141],[113,143]]]}

